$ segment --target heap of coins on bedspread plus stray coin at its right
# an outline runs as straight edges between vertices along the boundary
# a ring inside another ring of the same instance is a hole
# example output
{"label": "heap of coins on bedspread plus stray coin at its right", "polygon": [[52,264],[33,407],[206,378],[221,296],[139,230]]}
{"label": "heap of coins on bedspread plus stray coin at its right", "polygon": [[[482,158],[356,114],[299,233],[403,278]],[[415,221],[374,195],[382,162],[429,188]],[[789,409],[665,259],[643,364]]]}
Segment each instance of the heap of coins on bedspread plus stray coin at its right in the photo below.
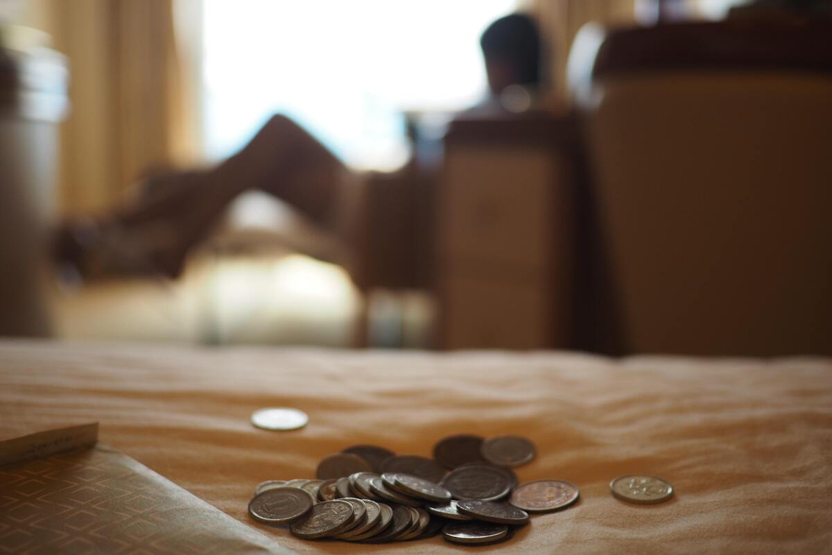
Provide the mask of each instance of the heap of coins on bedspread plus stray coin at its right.
{"label": "heap of coins on bedspread plus stray coin at its right", "polygon": [[[518,483],[512,468],[535,455],[531,441],[513,435],[453,435],[434,446],[433,458],[354,445],[321,460],[314,479],[258,484],[249,513],[304,539],[387,543],[442,533],[455,543],[497,543],[526,524],[529,513],[566,508],[578,498],[577,487],[564,480]],[[612,493],[638,503],[669,498],[670,484],[653,480],[617,478]]]}

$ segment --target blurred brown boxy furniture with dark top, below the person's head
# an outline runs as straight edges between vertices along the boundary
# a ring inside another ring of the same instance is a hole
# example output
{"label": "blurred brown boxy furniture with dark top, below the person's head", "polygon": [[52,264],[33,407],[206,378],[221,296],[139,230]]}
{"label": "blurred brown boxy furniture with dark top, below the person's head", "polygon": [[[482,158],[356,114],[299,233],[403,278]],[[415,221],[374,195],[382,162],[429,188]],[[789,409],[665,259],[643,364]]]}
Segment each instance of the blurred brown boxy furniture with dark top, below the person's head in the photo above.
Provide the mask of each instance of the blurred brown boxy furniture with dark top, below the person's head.
{"label": "blurred brown boxy furniture with dark top, below the person's head", "polygon": [[438,187],[441,348],[574,344],[575,129],[547,112],[451,124]]}

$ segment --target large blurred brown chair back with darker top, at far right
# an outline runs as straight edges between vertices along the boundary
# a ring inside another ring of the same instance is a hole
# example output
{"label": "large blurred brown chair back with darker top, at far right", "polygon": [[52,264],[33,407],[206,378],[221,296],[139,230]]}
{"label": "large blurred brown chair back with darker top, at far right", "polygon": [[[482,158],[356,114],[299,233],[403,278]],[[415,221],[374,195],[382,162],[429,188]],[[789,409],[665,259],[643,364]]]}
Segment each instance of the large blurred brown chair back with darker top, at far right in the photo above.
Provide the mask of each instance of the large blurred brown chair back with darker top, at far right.
{"label": "large blurred brown chair back with darker top, at far right", "polygon": [[830,37],[773,18],[577,38],[607,349],[832,353]]}

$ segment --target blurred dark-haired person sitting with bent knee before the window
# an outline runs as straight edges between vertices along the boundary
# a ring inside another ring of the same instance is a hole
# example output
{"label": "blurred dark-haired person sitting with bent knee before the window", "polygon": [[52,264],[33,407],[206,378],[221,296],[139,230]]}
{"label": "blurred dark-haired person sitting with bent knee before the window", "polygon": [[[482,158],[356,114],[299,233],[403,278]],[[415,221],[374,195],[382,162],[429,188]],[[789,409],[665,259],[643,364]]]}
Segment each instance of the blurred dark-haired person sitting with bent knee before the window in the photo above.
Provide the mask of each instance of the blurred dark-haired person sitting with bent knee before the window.
{"label": "blurred dark-haired person sitting with bent knee before the window", "polygon": [[[466,115],[495,115],[532,105],[541,85],[541,39],[531,17],[501,17],[480,45],[490,95]],[[503,97],[501,101],[501,96]],[[305,129],[272,116],[234,156],[208,170],[141,182],[111,213],[62,225],[54,255],[82,277],[106,273],[181,274],[188,253],[214,230],[245,191],[265,191],[350,244],[348,170]]]}

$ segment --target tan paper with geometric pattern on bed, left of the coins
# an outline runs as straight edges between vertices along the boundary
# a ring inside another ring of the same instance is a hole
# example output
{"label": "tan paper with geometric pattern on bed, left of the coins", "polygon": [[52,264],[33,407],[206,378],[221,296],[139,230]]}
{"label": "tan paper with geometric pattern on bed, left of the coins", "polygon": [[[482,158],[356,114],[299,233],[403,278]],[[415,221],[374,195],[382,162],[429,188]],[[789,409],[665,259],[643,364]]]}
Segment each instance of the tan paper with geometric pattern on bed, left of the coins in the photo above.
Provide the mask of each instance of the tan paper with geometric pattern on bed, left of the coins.
{"label": "tan paper with geometric pattern on bed, left of the coins", "polygon": [[291,553],[113,448],[0,467],[0,553]]}

